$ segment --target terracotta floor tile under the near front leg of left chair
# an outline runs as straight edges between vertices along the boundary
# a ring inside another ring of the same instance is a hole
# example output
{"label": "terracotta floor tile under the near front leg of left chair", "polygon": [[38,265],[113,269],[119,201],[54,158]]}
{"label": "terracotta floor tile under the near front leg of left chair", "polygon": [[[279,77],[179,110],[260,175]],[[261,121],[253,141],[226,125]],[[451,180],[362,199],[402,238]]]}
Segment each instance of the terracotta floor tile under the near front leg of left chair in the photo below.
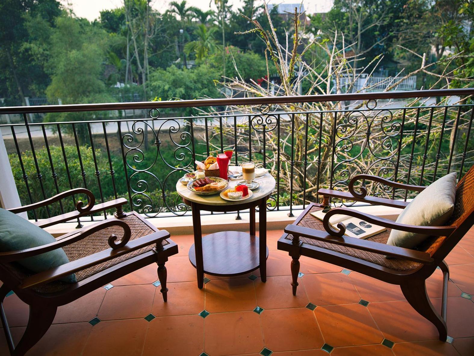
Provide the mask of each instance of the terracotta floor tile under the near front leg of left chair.
{"label": "terracotta floor tile under the near front leg of left chair", "polygon": [[152,314],[155,317],[199,314],[204,309],[204,290],[196,282],[168,283],[168,301],[163,302],[160,286],[155,290]]}

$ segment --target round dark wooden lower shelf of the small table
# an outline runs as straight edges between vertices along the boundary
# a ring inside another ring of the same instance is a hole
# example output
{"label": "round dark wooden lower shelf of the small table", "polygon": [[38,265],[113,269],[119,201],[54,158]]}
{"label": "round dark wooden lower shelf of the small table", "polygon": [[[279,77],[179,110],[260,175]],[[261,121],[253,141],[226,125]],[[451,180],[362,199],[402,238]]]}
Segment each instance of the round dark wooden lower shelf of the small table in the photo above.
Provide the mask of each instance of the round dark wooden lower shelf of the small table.
{"label": "round dark wooden lower shelf of the small table", "polygon": [[[260,267],[259,238],[239,231],[224,231],[202,238],[204,273],[214,276],[237,276]],[[268,258],[266,247],[265,259]],[[189,260],[196,267],[194,244],[189,249]]]}

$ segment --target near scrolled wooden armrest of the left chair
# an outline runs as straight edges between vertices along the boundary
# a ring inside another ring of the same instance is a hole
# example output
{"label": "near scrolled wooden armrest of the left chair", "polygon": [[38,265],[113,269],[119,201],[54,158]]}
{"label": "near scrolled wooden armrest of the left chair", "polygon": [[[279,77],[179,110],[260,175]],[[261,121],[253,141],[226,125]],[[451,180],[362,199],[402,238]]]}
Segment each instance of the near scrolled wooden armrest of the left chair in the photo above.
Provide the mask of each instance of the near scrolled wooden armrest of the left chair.
{"label": "near scrolled wooden armrest of the left chair", "polygon": [[73,244],[77,241],[80,241],[86,238],[87,236],[90,236],[91,234],[94,234],[100,230],[103,230],[107,227],[112,227],[112,226],[118,226],[122,228],[124,231],[124,236],[119,242],[116,242],[117,236],[115,234],[111,234],[108,239],[109,246],[112,249],[117,249],[127,244],[131,236],[130,226],[128,226],[128,224],[125,221],[118,220],[118,219],[111,219],[111,220],[102,221],[98,224],[95,224],[87,229],[84,229],[78,232],[77,234],[73,234],[71,236],[65,237],[64,239],[61,239],[56,242],[52,242],[51,244],[31,247],[25,250],[1,252],[0,262],[3,263],[3,262],[18,261],[23,258],[32,257],[41,253],[53,251],[57,248],[61,248],[66,245]]}

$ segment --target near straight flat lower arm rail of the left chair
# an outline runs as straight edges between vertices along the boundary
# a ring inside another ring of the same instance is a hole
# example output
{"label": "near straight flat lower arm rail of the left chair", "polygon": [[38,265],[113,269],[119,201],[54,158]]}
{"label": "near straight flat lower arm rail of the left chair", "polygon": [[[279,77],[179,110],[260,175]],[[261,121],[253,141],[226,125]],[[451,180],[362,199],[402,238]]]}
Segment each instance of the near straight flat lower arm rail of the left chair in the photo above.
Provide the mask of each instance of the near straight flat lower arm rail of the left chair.
{"label": "near straight flat lower arm rail of the left chair", "polygon": [[[151,244],[156,244],[157,246],[160,245],[161,247],[161,242],[164,239],[167,239],[168,237],[170,237],[170,234],[166,230],[156,231],[152,234],[142,236],[135,240],[129,241],[126,245],[122,245],[119,248],[110,248],[108,250],[93,253],[90,256],[82,257],[78,260],[65,263],[61,266],[52,268],[50,270],[36,273],[33,276],[25,278],[25,280],[19,287],[23,289],[31,288],[31,287],[39,287],[51,281],[55,281],[58,278],[64,277],[68,274],[75,273],[85,268],[94,266],[96,264],[112,260],[126,253],[139,250]],[[110,243],[110,238],[109,238],[109,243]],[[159,249],[160,248],[157,248],[157,250]]]}

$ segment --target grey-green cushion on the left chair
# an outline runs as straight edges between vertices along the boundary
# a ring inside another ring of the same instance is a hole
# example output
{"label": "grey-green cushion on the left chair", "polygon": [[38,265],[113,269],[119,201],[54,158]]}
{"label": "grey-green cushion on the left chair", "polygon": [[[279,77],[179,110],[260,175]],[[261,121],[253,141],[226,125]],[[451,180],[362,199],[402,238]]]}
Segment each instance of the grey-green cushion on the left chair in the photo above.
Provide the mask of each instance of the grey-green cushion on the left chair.
{"label": "grey-green cushion on the left chair", "polygon": [[[41,227],[0,208],[0,252],[18,251],[31,247],[51,244],[56,239]],[[69,259],[62,248],[17,261],[32,272],[43,272],[68,263]],[[73,283],[75,274],[60,279]]]}

